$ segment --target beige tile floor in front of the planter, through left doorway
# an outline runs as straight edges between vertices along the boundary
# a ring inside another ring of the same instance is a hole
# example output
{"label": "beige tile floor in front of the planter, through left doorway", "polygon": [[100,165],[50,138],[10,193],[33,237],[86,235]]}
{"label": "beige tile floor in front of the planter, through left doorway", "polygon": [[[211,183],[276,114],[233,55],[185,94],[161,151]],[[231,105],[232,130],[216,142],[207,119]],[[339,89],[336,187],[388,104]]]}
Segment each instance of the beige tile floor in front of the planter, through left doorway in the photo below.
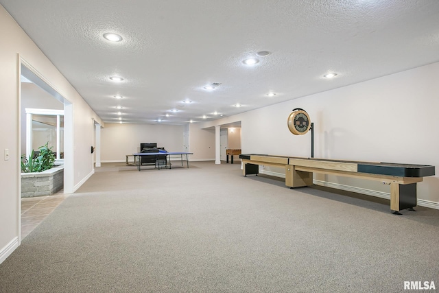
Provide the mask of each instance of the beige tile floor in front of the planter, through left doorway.
{"label": "beige tile floor in front of the planter, through left doorway", "polygon": [[62,191],[53,196],[37,196],[35,198],[21,199],[21,239],[23,240],[29,233],[42,222],[49,213],[67,198],[67,194]]}

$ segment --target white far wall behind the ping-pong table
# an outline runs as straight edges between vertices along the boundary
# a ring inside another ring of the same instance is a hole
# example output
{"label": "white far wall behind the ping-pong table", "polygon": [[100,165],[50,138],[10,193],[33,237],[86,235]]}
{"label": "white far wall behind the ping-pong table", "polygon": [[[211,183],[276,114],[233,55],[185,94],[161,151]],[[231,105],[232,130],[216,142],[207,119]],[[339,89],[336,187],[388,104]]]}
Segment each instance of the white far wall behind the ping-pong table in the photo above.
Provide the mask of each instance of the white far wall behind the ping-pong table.
{"label": "white far wall behind the ping-pong table", "polygon": [[106,124],[101,130],[101,162],[124,162],[140,152],[140,143],[157,143],[169,152],[183,152],[184,126],[163,124]]}

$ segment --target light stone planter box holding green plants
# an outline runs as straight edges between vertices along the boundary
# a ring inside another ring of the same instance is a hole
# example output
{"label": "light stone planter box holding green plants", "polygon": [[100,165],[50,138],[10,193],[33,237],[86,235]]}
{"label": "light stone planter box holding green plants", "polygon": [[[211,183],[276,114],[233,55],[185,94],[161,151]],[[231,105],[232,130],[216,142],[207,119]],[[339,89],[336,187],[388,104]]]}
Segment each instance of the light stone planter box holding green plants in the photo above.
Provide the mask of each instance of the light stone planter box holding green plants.
{"label": "light stone planter box holding green plants", "polygon": [[64,166],[39,173],[21,173],[21,198],[51,196],[64,188]]}

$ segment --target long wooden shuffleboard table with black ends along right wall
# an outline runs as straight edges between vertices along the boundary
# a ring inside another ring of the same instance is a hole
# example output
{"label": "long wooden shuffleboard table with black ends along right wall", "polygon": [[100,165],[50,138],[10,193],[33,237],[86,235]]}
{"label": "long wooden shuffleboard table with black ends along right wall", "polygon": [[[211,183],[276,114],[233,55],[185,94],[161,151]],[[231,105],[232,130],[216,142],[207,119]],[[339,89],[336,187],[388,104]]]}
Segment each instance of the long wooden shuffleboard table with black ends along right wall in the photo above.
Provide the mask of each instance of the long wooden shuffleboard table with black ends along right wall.
{"label": "long wooden shuffleboard table with black ends along right wall", "polygon": [[390,185],[390,210],[401,215],[403,209],[414,210],[417,205],[416,183],[423,177],[434,176],[431,165],[372,163],[330,159],[240,154],[244,176],[259,174],[259,165],[285,167],[285,185],[304,187],[313,185],[313,173],[330,174],[377,180]]}

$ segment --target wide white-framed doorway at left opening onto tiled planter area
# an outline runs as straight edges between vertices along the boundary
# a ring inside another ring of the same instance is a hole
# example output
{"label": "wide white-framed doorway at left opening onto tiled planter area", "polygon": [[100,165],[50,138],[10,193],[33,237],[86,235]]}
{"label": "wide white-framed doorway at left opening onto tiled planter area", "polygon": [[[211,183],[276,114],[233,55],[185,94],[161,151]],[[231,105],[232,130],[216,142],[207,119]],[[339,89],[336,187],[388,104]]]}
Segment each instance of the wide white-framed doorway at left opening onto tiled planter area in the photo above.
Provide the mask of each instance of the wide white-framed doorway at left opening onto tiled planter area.
{"label": "wide white-framed doorway at left opening onto tiled planter area", "polygon": [[[30,140],[26,136],[28,124],[31,128],[32,124],[34,124],[35,127],[33,128],[36,130],[35,137],[43,137],[43,139],[48,139],[49,137],[51,141],[56,141],[54,146],[57,152],[56,156],[59,161],[63,160],[64,162],[64,190],[62,193],[58,193],[55,196],[42,196],[40,198],[37,196],[29,200],[25,198],[23,201],[21,199],[21,192],[17,194],[17,200],[19,200],[19,242],[21,242],[25,235],[32,231],[45,216],[64,200],[64,194],[73,192],[73,105],[50,86],[32,65],[29,65],[21,57],[19,60],[19,143],[21,145],[21,154],[26,154],[26,145],[29,145],[29,149],[34,148],[32,145],[32,135]],[[29,113],[27,115],[25,108],[52,111],[52,114],[55,113],[52,116],[55,116],[56,124],[52,123],[54,117],[43,117],[46,116],[43,114],[47,113]],[[62,115],[60,115],[61,111],[63,112]],[[26,118],[29,115],[31,119],[26,123]],[[32,115],[35,115],[35,119],[32,119]],[[62,139],[60,136],[62,136]],[[56,139],[52,139],[54,137]],[[40,142],[36,142],[36,144],[38,143]],[[19,176],[18,181],[21,186],[21,173],[17,174],[17,176]],[[21,191],[21,188],[19,190]]]}

